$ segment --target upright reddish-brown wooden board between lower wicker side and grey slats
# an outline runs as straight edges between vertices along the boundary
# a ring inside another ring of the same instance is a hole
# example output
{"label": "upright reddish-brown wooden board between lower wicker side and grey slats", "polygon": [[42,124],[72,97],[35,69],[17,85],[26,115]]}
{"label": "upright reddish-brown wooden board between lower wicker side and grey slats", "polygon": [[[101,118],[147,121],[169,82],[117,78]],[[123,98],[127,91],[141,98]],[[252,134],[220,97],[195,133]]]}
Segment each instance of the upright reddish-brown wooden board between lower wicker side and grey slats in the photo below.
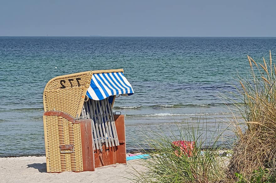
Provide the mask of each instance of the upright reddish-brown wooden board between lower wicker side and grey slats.
{"label": "upright reddish-brown wooden board between lower wicker side and grey slats", "polygon": [[83,171],[95,171],[94,150],[91,131],[91,119],[89,123],[80,123],[82,139],[82,166]]}

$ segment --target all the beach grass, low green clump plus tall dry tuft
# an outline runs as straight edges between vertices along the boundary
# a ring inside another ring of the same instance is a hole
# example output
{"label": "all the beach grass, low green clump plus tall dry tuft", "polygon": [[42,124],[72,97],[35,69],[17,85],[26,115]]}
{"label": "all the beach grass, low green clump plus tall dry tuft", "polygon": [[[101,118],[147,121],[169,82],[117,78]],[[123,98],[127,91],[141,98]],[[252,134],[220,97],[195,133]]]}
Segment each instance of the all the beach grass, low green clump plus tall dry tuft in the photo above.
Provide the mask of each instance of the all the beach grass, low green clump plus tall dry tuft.
{"label": "all the beach grass, low green clump plus tall dry tuft", "polygon": [[[158,133],[156,138],[148,138],[148,145],[155,149],[151,158],[141,161],[144,171],[134,171],[137,182],[276,182],[276,67],[263,58],[262,63],[248,56],[250,74],[247,78],[238,77],[237,92],[226,97],[236,108],[233,109],[234,121],[230,128],[236,134],[232,144],[231,156],[220,156],[222,147],[218,146],[226,129],[213,132],[206,128],[202,117],[197,126],[183,122],[178,124],[179,134]],[[231,99],[231,100],[230,100]],[[242,118],[242,124],[238,121]],[[207,122],[207,121],[206,121]],[[244,125],[244,128],[241,126]],[[204,134],[211,133],[206,143]],[[173,141],[194,141],[192,156],[181,154]],[[206,148],[206,145],[208,148]],[[204,149],[204,151],[203,151]],[[229,153],[228,153],[229,154]],[[228,155],[226,153],[226,155]]]}

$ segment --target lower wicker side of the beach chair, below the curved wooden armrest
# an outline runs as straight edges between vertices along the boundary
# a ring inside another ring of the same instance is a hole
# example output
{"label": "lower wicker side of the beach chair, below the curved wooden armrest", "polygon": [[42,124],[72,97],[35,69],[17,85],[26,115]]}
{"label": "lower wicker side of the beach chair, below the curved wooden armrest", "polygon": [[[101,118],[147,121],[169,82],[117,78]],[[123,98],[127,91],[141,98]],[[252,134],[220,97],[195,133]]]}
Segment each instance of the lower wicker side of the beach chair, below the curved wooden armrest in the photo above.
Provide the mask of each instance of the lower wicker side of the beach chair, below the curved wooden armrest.
{"label": "lower wicker side of the beach chair, below the curved wooden armrest", "polygon": [[[60,116],[43,116],[47,172],[82,171],[80,124]],[[59,145],[74,144],[73,153],[60,153]]]}

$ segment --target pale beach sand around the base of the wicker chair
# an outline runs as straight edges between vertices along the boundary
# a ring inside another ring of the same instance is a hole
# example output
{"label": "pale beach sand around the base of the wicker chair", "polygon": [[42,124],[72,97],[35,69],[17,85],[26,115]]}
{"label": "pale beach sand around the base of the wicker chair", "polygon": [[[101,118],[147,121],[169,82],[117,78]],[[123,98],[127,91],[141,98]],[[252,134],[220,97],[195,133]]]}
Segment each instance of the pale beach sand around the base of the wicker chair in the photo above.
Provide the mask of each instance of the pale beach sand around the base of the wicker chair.
{"label": "pale beach sand around the base of the wicker chair", "polygon": [[135,182],[130,180],[133,177],[128,172],[143,169],[138,161],[141,160],[95,171],[47,173],[45,156],[0,158],[0,182]]}

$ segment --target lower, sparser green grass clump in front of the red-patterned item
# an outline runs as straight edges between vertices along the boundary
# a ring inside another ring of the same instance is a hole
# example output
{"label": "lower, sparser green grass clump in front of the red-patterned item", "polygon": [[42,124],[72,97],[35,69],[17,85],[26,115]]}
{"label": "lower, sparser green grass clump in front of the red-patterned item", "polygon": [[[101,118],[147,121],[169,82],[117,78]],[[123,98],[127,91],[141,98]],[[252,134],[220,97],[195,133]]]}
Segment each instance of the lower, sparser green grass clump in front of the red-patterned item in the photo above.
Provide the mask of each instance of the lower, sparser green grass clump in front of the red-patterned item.
{"label": "lower, sparser green grass clump in front of the red-patterned item", "polygon": [[[199,117],[198,122],[188,124],[177,123],[178,133],[152,132],[156,138],[147,138],[148,145],[154,151],[151,158],[140,163],[144,171],[134,171],[131,174],[136,182],[217,182],[226,175],[229,157],[222,156],[221,137],[225,129],[218,124],[217,129],[210,131],[204,128],[207,121]],[[187,127],[188,126],[188,127]],[[169,129],[168,129],[169,130]],[[208,141],[206,136],[210,136]],[[194,142],[193,149],[188,148],[191,155],[183,152],[173,141],[183,140]]]}

